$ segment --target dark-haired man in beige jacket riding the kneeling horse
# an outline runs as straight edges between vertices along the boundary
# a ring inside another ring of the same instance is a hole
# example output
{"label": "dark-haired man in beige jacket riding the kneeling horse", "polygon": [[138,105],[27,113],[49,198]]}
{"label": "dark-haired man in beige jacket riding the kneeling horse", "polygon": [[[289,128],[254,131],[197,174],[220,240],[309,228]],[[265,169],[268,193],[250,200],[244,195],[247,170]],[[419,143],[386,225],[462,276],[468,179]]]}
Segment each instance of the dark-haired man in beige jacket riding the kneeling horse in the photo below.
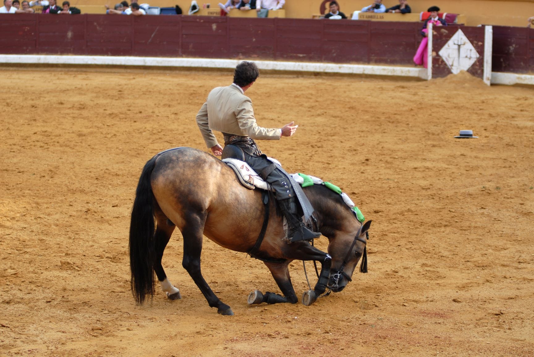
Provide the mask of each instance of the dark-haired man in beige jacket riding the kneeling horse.
{"label": "dark-haired man in beige jacket riding the kneeling horse", "polygon": [[[293,242],[318,238],[320,233],[308,229],[299,215],[299,202],[304,221],[313,212],[299,184],[280,165],[265,156],[255,142],[255,139],[280,140],[282,136],[292,136],[298,127],[293,121],[277,129],[256,124],[252,101],[245,92],[259,75],[260,70],[254,62],[239,63],[234,71],[233,83],[216,87],[208,94],[197,114],[197,124],[207,147],[215,156],[245,161],[272,186],[288,224],[287,239]],[[223,133],[224,150],[213,130]]]}

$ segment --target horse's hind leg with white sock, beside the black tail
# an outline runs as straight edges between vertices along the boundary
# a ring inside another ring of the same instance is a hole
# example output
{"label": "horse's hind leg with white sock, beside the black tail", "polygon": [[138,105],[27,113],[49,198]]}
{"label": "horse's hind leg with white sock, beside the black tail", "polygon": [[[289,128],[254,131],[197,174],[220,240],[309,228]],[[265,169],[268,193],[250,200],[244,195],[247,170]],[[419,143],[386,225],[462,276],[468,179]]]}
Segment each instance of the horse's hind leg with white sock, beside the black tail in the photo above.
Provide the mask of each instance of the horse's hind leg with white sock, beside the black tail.
{"label": "horse's hind leg with white sock, beside the black tail", "polygon": [[167,294],[167,297],[171,300],[181,299],[180,290],[172,286],[167,274],[163,270],[163,265],[161,265],[161,259],[163,257],[163,251],[169,242],[172,231],[174,231],[174,225],[167,224],[167,217],[163,215],[162,212],[155,213],[156,216],[156,231],[154,233],[155,241],[155,261],[154,261],[154,272],[158,277],[160,282],[161,289],[164,293]]}

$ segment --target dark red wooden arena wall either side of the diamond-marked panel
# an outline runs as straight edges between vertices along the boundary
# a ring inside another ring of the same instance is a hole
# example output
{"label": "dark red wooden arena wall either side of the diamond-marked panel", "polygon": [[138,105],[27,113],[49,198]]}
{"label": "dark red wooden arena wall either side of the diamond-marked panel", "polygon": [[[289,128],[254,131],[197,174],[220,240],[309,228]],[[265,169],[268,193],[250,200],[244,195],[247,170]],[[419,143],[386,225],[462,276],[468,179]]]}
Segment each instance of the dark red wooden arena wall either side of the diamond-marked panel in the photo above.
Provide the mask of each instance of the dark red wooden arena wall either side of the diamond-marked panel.
{"label": "dark red wooden arena wall either side of the diamond-marked panel", "polygon": [[[413,66],[420,28],[413,22],[0,14],[0,53]],[[493,71],[534,72],[534,29],[497,26],[493,38]]]}

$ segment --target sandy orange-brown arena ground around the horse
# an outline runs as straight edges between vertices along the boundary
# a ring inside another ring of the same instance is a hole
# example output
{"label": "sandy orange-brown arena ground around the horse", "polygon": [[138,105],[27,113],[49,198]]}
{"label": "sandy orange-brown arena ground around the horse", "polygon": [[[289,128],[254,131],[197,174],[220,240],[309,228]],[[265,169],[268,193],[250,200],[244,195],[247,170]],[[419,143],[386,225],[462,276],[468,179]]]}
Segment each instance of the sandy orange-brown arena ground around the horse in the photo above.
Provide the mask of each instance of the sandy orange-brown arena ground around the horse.
{"label": "sandy orange-brown arena ground around the horse", "polygon": [[[247,92],[259,123],[299,129],[261,148],[341,186],[373,220],[369,273],[309,307],[251,307],[250,291],[279,291],[268,269],[206,239],[202,272],[226,317],[183,269],[179,232],[163,265],[183,299],[158,288],[136,306],[128,230],[143,165],[164,149],[205,149],[194,117],[232,73],[0,77],[0,355],[534,354],[532,88],[467,74],[263,74]],[[459,129],[479,138],[453,139]],[[300,297],[302,263],[290,272]]]}

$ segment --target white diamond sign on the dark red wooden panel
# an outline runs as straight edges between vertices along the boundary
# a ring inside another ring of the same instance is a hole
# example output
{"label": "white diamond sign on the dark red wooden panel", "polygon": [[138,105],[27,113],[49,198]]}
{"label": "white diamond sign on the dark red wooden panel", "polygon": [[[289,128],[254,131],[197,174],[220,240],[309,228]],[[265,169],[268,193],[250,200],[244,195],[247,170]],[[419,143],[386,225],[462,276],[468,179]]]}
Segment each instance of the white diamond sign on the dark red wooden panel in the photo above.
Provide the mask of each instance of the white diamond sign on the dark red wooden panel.
{"label": "white diamond sign on the dark red wooden panel", "polygon": [[455,75],[461,70],[467,71],[480,57],[462,30],[452,35],[445,46],[439,50],[439,55]]}

